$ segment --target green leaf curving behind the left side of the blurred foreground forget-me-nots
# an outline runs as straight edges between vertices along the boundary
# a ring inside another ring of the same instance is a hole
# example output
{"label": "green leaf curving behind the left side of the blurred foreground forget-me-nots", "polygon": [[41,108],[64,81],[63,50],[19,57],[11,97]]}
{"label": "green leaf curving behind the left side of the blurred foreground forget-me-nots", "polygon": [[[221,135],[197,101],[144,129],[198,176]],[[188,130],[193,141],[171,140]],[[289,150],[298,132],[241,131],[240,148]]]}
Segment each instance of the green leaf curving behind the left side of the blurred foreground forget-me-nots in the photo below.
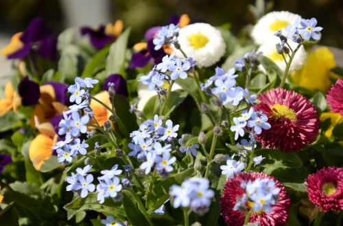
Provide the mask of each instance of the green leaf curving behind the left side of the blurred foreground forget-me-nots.
{"label": "green leaf curving behind the left side of the blurred foreground forget-me-nots", "polygon": [[148,213],[154,212],[161,207],[167,199],[169,199],[169,188],[173,184],[181,184],[188,177],[193,177],[196,172],[193,168],[189,168],[182,173],[170,175],[158,184],[155,184],[152,191],[147,195]]}

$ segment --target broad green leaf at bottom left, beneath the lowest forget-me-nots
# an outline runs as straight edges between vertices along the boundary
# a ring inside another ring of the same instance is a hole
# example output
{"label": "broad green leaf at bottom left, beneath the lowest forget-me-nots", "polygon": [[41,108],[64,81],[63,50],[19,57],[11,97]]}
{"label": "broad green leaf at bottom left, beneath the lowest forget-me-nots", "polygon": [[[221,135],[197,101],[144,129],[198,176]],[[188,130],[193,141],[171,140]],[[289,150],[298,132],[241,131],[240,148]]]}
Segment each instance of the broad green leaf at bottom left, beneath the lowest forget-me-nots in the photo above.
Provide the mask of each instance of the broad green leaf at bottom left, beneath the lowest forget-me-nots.
{"label": "broad green leaf at bottom left, beneath the lowest forget-me-nots", "polygon": [[85,198],[76,197],[71,203],[64,205],[63,208],[69,211],[68,220],[80,210],[94,210],[102,214],[113,215],[115,218],[119,218],[119,220],[126,220],[126,214],[120,202],[116,203],[113,199],[105,199],[105,202],[100,204],[97,201],[97,193],[95,192],[88,193]]}

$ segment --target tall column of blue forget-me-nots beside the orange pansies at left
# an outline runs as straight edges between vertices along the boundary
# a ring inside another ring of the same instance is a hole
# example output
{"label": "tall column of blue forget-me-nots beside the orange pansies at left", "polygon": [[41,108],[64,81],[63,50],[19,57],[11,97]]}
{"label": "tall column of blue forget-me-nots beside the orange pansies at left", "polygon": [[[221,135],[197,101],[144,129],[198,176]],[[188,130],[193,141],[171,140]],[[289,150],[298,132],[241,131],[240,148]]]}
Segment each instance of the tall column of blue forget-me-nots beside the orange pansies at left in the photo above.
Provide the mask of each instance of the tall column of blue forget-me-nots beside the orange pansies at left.
{"label": "tall column of blue forget-me-nots beside the orange pansies at left", "polygon": [[93,84],[98,82],[88,77],[85,79],[76,77],[75,84],[69,86],[68,92],[71,94],[69,101],[75,104],[69,106],[68,111],[63,112],[63,118],[58,124],[58,134],[64,136],[64,140],[60,140],[53,147],[58,154],[58,162],[69,164],[78,153],[86,154],[88,144],[85,140],[81,140],[80,136],[87,133],[87,123],[93,117],[93,111],[89,108],[89,88],[93,88]]}

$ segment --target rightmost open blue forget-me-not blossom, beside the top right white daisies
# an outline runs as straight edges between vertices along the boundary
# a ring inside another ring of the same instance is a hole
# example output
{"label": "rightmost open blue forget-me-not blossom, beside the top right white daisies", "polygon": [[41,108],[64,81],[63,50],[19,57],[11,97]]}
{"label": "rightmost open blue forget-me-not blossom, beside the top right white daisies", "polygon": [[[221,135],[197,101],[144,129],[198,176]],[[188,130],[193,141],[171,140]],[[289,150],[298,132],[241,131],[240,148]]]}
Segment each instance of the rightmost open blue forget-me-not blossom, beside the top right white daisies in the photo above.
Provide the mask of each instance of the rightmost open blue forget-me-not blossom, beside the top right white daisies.
{"label": "rightmost open blue forget-me-not blossom, beside the top right white daisies", "polygon": [[311,18],[311,19],[302,19],[300,22],[300,27],[298,29],[300,35],[303,37],[305,40],[309,41],[316,41],[320,40],[320,31],[322,31],[322,27],[316,27],[317,25],[317,20],[316,18]]}

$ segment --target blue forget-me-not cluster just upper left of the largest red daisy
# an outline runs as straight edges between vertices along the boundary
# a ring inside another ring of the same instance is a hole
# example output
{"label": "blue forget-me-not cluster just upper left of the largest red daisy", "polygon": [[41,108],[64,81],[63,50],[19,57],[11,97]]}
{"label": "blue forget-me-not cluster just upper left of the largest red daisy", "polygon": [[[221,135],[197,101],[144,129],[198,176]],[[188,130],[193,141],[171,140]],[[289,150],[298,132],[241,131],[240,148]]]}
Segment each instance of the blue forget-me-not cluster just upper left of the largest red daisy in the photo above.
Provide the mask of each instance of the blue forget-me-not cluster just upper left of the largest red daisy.
{"label": "blue forget-me-not cluster just upper left of the largest red daisy", "polygon": [[[249,104],[254,104],[256,95],[250,95],[248,89],[235,86],[236,77],[238,75],[235,74],[235,68],[224,71],[222,68],[217,67],[215,68],[215,75],[210,77],[206,83],[201,84],[202,90],[209,93],[209,95],[219,97],[224,105],[231,103],[237,106],[243,99]],[[211,88],[213,84],[215,87]]]}

